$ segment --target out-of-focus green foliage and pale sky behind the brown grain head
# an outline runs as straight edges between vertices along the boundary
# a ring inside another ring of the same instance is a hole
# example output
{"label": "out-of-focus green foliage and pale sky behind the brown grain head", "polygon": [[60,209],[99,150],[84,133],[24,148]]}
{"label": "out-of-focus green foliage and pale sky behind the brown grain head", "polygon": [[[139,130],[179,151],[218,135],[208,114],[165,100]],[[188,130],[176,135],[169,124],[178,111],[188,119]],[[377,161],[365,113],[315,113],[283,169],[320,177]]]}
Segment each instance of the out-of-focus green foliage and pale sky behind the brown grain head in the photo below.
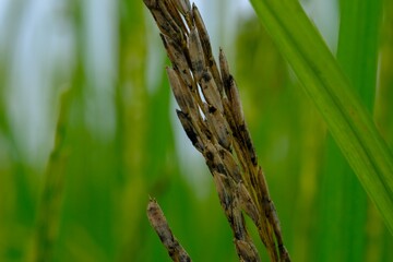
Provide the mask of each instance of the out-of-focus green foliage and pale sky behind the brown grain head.
{"label": "out-of-focus green foliage and pale sky behind the brown grain head", "polygon": [[[196,3],[238,82],[293,261],[393,261],[392,236],[250,4]],[[345,70],[340,3],[303,7]],[[392,147],[392,1],[382,11],[367,105]],[[169,261],[150,195],[194,261],[237,261],[166,64],[142,0],[0,1],[0,261]]]}

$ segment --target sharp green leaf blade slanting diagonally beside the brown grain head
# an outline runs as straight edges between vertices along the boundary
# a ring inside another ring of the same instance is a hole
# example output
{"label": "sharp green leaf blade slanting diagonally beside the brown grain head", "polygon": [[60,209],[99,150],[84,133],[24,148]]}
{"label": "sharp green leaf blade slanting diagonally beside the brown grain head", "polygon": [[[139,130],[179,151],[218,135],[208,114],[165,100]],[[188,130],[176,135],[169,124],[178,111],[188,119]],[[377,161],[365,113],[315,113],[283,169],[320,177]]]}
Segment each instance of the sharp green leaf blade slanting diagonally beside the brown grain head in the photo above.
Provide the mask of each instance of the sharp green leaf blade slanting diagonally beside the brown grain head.
{"label": "sharp green leaf blade slanting diagonally beside the brown grain head", "polygon": [[367,108],[298,1],[251,0],[393,233],[393,160]]}

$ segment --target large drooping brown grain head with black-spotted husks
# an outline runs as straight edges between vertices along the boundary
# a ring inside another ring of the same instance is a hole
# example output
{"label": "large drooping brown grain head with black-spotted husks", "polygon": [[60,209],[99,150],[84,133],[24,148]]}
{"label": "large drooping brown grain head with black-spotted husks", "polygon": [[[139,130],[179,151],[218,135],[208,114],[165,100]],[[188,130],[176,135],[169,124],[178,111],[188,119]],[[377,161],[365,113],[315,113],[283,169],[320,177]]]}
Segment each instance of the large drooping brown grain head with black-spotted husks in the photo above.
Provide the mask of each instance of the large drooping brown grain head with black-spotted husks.
{"label": "large drooping brown grain head with black-spotted husks", "polygon": [[[260,261],[246,227],[246,213],[255,224],[270,260],[290,261],[224,51],[219,50],[218,70],[201,14],[188,0],[144,3],[172,64],[167,73],[180,107],[178,118],[213,175],[239,260]],[[152,225],[157,230],[154,219]]]}

